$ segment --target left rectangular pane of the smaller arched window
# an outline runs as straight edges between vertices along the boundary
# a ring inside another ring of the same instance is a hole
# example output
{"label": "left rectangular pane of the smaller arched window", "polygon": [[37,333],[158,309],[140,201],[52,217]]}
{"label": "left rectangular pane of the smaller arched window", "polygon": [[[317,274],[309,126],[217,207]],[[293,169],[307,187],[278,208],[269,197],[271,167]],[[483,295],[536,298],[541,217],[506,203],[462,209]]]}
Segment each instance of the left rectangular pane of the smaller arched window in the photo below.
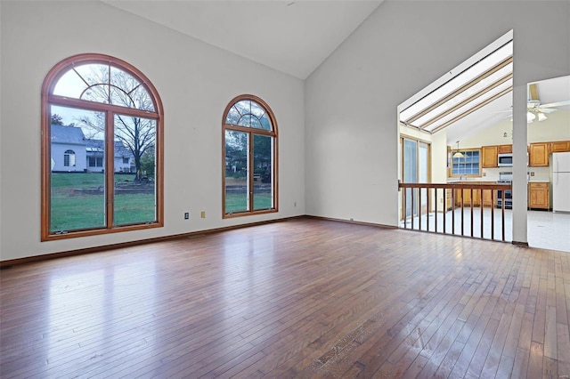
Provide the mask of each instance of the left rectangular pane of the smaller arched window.
{"label": "left rectangular pane of the smaller arched window", "polygon": [[249,210],[248,133],[225,131],[225,213]]}

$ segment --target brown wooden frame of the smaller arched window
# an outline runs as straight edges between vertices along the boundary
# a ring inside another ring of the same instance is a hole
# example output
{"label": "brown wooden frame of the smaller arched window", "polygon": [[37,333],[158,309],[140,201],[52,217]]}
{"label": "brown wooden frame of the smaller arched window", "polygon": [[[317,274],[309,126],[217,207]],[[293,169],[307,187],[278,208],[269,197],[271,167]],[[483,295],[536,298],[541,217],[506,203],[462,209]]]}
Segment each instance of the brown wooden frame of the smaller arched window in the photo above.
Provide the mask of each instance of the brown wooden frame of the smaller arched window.
{"label": "brown wooden frame of the smaller arched window", "polygon": [[[271,124],[272,124],[272,130],[265,130],[265,129],[258,129],[258,128],[254,128],[254,127],[248,127],[248,126],[240,126],[240,125],[231,125],[231,124],[226,124],[226,117],[228,115],[228,112],[230,111],[230,109],[232,109],[233,105],[236,104],[239,101],[254,101],[256,102],[259,106],[261,106],[263,109],[265,109],[265,114],[267,115],[267,117],[269,117]],[[273,208],[270,209],[261,209],[261,210],[254,210],[253,209],[253,189],[254,189],[254,175],[252,174],[254,172],[253,170],[253,165],[254,165],[254,159],[253,159],[253,150],[249,149],[248,150],[248,176],[247,176],[247,181],[249,184],[249,209],[247,211],[242,211],[242,212],[236,212],[236,213],[232,213],[232,214],[226,214],[225,212],[225,132],[227,130],[231,130],[231,131],[235,131],[235,132],[242,132],[242,133],[248,133],[248,141],[250,141],[250,143],[253,143],[253,135],[257,134],[257,135],[265,135],[265,136],[270,136],[273,137],[273,166],[272,166],[272,171],[273,171]],[[250,215],[254,215],[254,214],[272,214],[272,213],[276,213],[279,212],[279,201],[278,201],[278,177],[279,177],[279,160],[278,160],[278,133],[277,133],[277,120],[275,119],[275,115],[273,114],[273,110],[269,107],[269,105],[263,101],[261,98],[257,97],[256,95],[252,95],[252,94],[241,94],[239,96],[236,96],[235,98],[232,99],[232,101],[230,101],[228,103],[228,105],[225,107],[224,109],[224,116],[222,117],[222,218],[224,219],[229,219],[229,218],[235,218],[235,217],[243,217],[243,216],[250,216]]]}

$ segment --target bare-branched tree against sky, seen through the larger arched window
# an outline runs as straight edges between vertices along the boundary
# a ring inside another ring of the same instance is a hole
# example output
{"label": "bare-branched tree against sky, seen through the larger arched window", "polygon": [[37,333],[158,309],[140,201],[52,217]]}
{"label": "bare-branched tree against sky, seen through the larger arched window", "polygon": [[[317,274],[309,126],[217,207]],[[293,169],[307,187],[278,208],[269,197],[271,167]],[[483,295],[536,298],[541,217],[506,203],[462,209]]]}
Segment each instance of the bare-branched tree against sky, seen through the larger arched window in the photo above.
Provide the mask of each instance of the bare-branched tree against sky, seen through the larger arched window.
{"label": "bare-branched tree against sky, seen through the larger arched window", "polygon": [[[146,88],[136,78],[125,71],[103,65],[90,65],[85,79],[90,87],[83,95],[84,100],[114,104],[131,109],[154,111],[154,103]],[[94,118],[82,117],[80,120],[97,133],[105,131],[105,115],[96,113]],[[124,116],[114,117],[113,135],[115,141],[121,141],[134,157],[135,181],[142,179],[142,157],[149,149],[154,149],[156,141],[156,121],[151,118]],[[88,137],[89,138],[89,137]],[[154,154],[147,156],[154,166]]]}

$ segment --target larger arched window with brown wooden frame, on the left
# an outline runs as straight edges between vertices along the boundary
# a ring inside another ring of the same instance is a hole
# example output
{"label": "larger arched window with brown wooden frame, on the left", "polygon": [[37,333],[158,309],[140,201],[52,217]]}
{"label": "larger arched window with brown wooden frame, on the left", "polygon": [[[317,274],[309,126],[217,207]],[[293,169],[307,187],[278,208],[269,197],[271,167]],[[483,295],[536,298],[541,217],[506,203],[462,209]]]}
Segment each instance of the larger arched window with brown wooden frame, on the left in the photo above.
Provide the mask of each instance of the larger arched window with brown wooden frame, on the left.
{"label": "larger arched window with brown wooden frame, on the left", "polygon": [[123,60],[80,54],[42,86],[42,240],[163,225],[162,103]]}

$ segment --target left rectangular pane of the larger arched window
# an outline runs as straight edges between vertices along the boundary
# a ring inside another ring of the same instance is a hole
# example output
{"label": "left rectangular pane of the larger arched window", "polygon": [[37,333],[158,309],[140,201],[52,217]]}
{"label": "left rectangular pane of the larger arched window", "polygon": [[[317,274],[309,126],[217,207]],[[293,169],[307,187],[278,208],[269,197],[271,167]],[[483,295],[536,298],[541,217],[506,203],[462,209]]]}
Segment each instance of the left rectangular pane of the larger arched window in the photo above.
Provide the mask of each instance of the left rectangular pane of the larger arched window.
{"label": "left rectangular pane of the larger arched window", "polygon": [[[104,154],[101,112],[51,107],[50,231],[101,228],[105,219],[105,177],[90,159]],[[93,146],[97,148],[94,150]]]}

